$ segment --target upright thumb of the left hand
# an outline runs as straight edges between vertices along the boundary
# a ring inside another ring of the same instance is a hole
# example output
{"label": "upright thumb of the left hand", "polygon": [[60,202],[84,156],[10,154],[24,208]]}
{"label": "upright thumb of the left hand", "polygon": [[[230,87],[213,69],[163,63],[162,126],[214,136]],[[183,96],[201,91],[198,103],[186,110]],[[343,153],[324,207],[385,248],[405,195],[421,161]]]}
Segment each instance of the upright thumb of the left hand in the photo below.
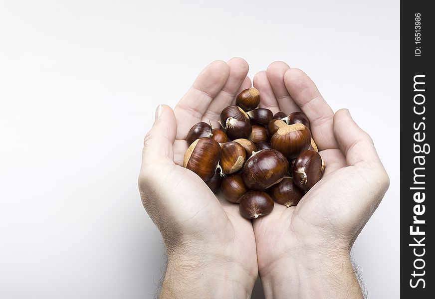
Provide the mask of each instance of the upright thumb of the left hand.
{"label": "upright thumb of the left hand", "polygon": [[173,144],[177,134],[177,121],[171,107],[160,105],[156,121],[145,137],[142,151],[142,169],[150,164],[174,164]]}

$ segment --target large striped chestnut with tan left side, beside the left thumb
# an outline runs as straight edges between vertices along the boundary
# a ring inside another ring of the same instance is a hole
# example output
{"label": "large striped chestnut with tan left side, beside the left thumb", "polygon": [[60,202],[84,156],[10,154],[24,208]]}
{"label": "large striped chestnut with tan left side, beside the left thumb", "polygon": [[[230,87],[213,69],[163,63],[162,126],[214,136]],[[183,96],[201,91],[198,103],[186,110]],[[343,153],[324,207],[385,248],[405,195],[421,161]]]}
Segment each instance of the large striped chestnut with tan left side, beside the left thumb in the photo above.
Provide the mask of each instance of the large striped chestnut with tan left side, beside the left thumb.
{"label": "large striped chestnut with tan left side, beside the left thumb", "polygon": [[186,150],[183,167],[192,170],[204,181],[208,181],[215,175],[220,154],[220,146],[215,140],[210,137],[197,139]]}

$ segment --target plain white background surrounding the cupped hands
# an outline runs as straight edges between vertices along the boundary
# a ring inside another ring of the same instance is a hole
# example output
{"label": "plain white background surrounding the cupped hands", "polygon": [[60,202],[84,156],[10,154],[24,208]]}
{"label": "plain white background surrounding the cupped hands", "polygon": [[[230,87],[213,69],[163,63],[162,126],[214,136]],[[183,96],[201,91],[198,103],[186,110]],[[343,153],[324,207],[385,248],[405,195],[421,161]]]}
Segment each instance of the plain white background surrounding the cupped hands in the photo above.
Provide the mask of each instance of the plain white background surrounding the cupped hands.
{"label": "plain white background surrounding the cupped hands", "polygon": [[158,104],[234,56],[251,78],[274,60],[303,69],[371,134],[391,187],[353,253],[369,298],[399,298],[392,0],[2,1],[1,298],[153,297],[164,252],[137,190],[143,137]]}

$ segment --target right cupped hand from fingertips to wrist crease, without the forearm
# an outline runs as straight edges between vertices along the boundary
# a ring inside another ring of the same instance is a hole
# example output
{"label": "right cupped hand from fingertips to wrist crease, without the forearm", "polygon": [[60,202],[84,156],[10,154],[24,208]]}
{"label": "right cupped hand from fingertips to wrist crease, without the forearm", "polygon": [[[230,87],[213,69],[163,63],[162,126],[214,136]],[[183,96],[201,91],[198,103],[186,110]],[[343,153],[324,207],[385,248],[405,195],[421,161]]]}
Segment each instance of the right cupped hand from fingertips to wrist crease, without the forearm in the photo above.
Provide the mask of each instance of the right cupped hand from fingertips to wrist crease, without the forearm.
{"label": "right cupped hand from fingertips to wrist crease, without the forearm", "polygon": [[349,250],[388,188],[370,137],[346,111],[334,116],[314,83],[298,69],[272,63],[254,77],[254,86],[262,106],[273,112],[302,109],[326,162],[323,178],[297,206],[275,204],[270,215],[254,221],[260,275],[299,249]]}

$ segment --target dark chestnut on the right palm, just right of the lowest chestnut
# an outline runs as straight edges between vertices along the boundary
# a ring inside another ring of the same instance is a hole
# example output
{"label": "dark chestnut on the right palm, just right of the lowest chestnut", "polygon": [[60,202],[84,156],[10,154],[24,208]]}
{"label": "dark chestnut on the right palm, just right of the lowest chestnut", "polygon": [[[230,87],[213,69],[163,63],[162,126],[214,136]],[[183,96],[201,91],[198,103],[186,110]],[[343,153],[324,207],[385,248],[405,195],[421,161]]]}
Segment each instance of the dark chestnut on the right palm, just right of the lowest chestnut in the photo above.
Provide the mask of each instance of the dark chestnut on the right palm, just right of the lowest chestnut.
{"label": "dark chestnut on the right palm, just right of the lowest chestnut", "polygon": [[276,203],[288,208],[297,205],[305,192],[294,183],[293,178],[286,176],[282,181],[270,187],[269,194]]}

